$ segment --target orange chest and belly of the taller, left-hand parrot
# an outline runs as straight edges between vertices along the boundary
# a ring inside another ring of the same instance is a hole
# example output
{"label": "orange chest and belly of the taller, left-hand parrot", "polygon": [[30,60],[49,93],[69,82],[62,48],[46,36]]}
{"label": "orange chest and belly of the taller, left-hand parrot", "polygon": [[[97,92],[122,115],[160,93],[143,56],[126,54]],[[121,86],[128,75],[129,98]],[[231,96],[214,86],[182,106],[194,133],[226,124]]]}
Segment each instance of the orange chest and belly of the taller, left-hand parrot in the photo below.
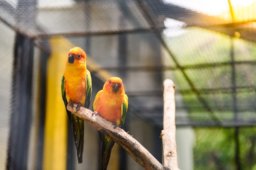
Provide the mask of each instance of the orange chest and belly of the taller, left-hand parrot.
{"label": "orange chest and belly of the taller, left-hand parrot", "polygon": [[65,90],[67,102],[70,102],[70,100],[74,103],[80,102],[84,106],[86,96],[85,76],[66,76]]}

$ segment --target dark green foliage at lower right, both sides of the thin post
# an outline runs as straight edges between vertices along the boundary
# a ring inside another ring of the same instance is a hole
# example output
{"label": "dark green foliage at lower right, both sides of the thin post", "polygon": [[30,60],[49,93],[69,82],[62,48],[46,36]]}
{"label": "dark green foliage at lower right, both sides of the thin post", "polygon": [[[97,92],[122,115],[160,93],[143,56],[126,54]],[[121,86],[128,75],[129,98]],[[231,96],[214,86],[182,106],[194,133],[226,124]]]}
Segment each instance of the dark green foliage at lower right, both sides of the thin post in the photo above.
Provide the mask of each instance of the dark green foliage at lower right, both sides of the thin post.
{"label": "dark green foliage at lower right, both sides of the thin post", "polygon": [[[195,170],[234,170],[234,128],[197,128]],[[239,128],[240,162],[243,170],[256,169],[256,127]]]}

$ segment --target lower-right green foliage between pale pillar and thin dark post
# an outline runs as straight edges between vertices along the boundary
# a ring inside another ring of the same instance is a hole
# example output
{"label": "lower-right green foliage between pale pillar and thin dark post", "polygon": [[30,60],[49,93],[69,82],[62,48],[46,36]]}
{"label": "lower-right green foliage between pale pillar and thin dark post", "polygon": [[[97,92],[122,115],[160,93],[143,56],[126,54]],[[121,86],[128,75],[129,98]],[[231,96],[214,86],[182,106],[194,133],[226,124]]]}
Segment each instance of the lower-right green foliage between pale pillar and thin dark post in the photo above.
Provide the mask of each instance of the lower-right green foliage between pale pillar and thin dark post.
{"label": "lower-right green foliage between pale pillar and thin dark post", "polygon": [[234,170],[234,129],[195,129],[195,170]]}

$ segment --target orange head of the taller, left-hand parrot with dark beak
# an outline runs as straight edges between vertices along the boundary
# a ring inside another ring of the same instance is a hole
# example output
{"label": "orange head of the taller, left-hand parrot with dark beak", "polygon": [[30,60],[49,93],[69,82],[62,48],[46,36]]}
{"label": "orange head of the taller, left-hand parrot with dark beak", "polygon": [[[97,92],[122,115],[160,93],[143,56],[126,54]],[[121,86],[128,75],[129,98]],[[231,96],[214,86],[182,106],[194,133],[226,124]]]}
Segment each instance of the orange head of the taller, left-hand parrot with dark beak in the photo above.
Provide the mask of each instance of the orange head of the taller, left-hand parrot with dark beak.
{"label": "orange head of the taller, left-hand parrot with dark beak", "polygon": [[84,66],[86,67],[86,54],[80,47],[71,48],[68,52],[66,65]]}

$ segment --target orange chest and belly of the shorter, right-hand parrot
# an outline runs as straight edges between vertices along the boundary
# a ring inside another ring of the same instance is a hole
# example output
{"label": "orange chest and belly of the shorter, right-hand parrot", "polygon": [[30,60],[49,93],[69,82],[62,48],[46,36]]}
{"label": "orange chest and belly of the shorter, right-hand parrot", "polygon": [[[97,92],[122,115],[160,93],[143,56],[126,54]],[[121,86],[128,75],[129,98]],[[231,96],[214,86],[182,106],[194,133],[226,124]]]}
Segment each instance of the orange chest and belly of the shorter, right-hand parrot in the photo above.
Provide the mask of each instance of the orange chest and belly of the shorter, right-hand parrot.
{"label": "orange chest and belly of the shorter, right-hand parrot", "polygon": [[97,111],[102,118],[119,125],[121,121],[121,105],[123,101],[122,98],[101,96],[101,100],[95,111]]}

